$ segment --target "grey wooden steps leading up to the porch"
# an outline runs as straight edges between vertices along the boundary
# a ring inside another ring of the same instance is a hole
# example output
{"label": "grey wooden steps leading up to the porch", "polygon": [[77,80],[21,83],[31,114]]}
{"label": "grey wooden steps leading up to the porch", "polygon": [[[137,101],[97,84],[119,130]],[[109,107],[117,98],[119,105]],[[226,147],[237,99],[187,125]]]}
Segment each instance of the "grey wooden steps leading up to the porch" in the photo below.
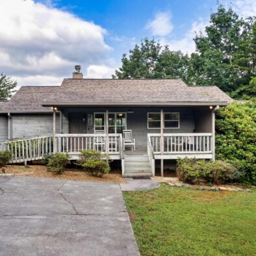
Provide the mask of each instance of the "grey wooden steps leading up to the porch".
{"label": "grey wooden steps leading up to the porch", "polygon": [[124,160],[125,177],[152,175],[147,155],[125,155]]}

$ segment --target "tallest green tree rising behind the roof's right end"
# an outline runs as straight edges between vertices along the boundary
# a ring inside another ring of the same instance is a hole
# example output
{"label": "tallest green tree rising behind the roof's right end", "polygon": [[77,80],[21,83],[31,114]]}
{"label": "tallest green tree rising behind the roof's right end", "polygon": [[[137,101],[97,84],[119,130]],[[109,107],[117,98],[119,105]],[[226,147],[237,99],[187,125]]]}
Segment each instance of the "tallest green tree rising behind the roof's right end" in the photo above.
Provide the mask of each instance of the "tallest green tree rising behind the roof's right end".
{"label": "tallest green tree rising behind the roof's right end", "polygon": [[243,51],[241,45],[248,40],[252,22],[253,18],[250,21],[239,18],[231,7],[218,6],[211,14],[205,34],[199,33],[194,38],[197,53],[191,55],[190,69],[195,73],[192,83],[216,85],[229,93],[245,80],[249,83],[250,79],[244,79],[245,74],[237,70],[234,58]]}

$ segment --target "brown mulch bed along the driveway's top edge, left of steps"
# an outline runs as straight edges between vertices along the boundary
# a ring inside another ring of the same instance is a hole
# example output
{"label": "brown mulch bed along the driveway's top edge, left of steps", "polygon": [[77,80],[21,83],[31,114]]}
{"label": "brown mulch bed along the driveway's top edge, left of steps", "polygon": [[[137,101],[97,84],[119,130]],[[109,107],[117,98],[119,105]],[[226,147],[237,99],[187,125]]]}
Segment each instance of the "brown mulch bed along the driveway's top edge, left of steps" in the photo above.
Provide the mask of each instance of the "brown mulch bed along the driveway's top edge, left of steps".
{"label": "brown mulch bed along the driveway's top edge, left of steps", "polygon": [[[51,172],[47,172],[45,166],[42,165],[31,165],[31,166],[20,166],[20,165],[9,165],[4,169],[6,175],[13,175],[19,177],[45,177],[53,179],[71,179],[73,181],[95,181],[95,182],[114,182],[114,183],[125,183],[125,179],[121,173],[110,172],[105,174],[103,178],[92,177],[87,175],[81,170],[75,168],[67,168],[66,172],[61,175],[55,175]],[[0,172],[1,174],[3,172]],[[3,173],[4,174],[4,173]]]}

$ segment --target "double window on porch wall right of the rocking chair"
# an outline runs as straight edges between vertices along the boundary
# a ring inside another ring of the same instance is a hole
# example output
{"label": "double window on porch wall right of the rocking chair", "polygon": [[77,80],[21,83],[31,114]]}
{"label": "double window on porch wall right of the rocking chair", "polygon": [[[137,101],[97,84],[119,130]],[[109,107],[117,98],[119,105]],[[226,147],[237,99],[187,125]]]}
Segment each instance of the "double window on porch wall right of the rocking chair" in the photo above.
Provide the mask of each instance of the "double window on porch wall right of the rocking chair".
{"label": "double window on porch wall right of the rocking chair", "polygon": [[[160,113],[147,113],[147,129],[160,129]],[[179,129],[179,113],[164,113],[164,129]]]}

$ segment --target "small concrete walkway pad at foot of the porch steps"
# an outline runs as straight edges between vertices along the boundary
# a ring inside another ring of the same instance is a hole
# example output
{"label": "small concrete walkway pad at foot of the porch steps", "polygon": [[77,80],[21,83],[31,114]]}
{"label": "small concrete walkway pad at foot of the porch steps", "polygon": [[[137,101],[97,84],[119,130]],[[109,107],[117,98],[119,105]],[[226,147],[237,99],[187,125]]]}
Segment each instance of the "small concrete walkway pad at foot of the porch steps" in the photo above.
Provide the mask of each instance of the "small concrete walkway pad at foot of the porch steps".
{"label": "small concrete walkway pad at foot of the porch steps", "polygon": [[154,179],[133,179],[125,178],[127,183],[120,183],[122,191],[140,191],[140,190],[150,190],[159,187],[159,183]]}

